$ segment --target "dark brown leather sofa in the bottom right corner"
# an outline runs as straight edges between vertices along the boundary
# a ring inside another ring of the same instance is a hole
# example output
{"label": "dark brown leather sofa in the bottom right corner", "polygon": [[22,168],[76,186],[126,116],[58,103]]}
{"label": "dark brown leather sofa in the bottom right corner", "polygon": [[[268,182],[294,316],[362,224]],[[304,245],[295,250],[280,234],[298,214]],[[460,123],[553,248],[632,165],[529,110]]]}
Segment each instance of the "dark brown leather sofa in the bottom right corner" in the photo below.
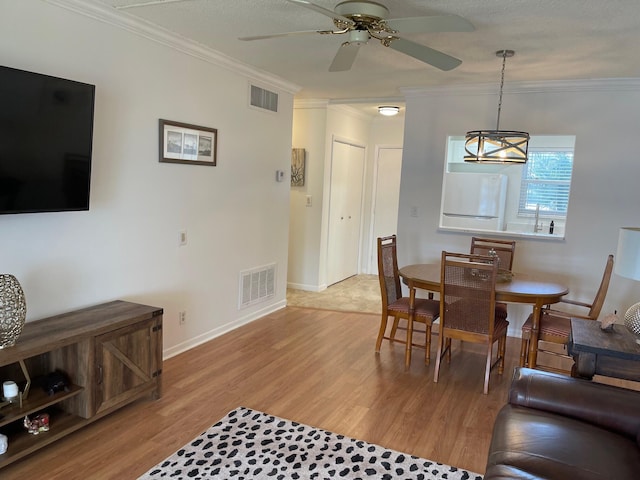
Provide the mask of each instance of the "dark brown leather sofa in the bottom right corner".
{"label": "dark brown leather sofa in the bottom right corner", "polygon": [[640,392],[517,368],[484,480],[640,479]]}

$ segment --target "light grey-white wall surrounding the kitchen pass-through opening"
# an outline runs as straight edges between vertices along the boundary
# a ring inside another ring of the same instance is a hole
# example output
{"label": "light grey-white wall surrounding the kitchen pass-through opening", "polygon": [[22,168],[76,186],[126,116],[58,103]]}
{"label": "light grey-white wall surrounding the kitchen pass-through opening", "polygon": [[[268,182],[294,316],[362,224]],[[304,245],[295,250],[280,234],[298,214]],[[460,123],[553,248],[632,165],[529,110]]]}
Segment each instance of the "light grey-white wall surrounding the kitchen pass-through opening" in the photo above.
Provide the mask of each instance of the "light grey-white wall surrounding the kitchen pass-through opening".
{"label": "light grey-white wall surrounding the kitchen pass-through opening", "polygon": [[[471,234],[438,230],[446,138],[495,128],[495,87],[412,90],[407,95],[399,212],[399,263],[438,261],[442,250],[466,251]],[[569,297],[592,301],[618,229],[638,226],[640,125],[637,80],[553,82],[505,92],[501,128],[532,135],[576,136],[565,240],[519,239],[514,270],[566,282]],[[409,216],[417,206],[418,218]],[[614,274],[603,314],[640,299],[640,284]],[[519,335],[529,307],[509,307],[509,334]]]}

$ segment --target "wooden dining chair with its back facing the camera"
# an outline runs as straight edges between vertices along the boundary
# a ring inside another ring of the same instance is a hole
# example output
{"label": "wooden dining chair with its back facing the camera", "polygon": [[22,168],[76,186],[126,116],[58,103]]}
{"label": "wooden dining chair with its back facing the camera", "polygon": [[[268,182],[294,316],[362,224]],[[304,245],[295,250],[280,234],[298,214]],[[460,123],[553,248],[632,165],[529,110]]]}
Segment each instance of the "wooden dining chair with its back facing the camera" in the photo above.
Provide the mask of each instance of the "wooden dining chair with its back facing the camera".
{"label": "wooden dining chair with its back facing the camera", "polygon": [[[489,374],[504,371],[509,322],[495,308],[498,260],[486,255],[442,252],[440,274],[440,334],[433,381],[438,381],[442,358],[451,362],[451,340],[486,345],[483,393],[489,392]],[[498,342],[496,360],[493,344]]]}

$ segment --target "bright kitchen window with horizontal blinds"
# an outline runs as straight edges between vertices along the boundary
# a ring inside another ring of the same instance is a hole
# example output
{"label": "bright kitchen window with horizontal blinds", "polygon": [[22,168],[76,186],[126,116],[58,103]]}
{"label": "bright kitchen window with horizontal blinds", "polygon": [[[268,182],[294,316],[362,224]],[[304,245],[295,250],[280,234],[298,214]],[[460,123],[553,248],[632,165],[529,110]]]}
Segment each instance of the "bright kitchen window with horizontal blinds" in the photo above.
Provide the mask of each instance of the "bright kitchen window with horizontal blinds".
{"label": "bright kitchen window with horizontal blinds", "polygon": [[569,206],[573,148],[534,148],[522,169],[518,215],[564,219]]}

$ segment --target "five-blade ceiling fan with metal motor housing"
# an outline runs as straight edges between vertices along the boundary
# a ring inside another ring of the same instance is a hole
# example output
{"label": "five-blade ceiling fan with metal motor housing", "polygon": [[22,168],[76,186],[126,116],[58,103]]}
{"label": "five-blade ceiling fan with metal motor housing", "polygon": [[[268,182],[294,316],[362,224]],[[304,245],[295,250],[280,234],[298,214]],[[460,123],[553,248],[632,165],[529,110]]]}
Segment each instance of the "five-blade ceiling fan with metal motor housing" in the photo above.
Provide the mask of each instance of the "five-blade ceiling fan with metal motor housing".
{"label": "five-blade ceiling fan with metal motor housing", "polygon": [[334,11],[306,0],[286,0],[289,3],[314,10],[333,19],[336,30],[306,30],[299,32],[275,33],[241,37],[239,40],[263,40],[320,33],[322,35],[347,35],[347,41],[338,49],[331,62],[330,72],[349,70],[356,59],[361,45],[370,39],[380,41],[385,47],[402,52],[440,70],[451,70],[462,63],[438,50],[405,38],[410,33],[431,32],[471,32],[474,26],[457,15],[436,15],[387,19],[389,9],[384,5],[367,0],[347,0],[336,5]]}

